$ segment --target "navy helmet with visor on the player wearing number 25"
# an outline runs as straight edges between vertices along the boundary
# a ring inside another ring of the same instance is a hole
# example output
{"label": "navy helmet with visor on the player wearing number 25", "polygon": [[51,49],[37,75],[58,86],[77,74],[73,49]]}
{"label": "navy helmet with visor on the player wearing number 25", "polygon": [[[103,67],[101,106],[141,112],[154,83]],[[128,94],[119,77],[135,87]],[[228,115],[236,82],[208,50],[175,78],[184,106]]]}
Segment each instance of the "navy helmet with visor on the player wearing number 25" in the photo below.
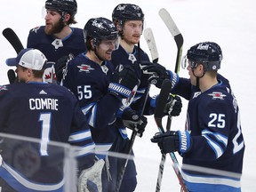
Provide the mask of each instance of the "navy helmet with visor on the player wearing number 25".
{"label": "navy helmet with visor on the player wearing number 25", "polygon": [[188,65],[193,69],[197,64],[203,64],[204,70],[218,70],[222,60],[222,52],[219,44],[203,42],[196,44],[187,52]]}

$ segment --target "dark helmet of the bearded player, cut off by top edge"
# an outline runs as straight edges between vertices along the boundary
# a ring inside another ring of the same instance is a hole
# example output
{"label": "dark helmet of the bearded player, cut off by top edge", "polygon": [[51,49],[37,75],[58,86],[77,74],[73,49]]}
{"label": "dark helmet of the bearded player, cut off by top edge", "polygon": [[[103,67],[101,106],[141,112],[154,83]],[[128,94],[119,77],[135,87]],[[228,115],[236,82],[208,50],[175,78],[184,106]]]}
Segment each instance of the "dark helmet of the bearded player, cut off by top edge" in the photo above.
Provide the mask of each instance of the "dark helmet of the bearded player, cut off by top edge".
{"label": "dark helmet of the bearded player, cut off by top edge", "polygon": [[74,17],[77,12],[76,0],[46,0],[45,9],[57,12],[68,12]]}

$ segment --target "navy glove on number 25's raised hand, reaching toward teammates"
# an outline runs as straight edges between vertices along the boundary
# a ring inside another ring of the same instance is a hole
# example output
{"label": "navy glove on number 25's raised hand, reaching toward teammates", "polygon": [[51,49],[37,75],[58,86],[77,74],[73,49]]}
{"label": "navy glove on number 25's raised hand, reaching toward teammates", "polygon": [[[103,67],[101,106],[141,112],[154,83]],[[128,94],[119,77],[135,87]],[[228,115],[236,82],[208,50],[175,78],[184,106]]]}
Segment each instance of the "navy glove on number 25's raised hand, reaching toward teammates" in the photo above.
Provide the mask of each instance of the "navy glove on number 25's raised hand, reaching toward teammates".
{"label": "navy glove on number 25's raised hand, reaching toward teammates", "polygon": [[170,70],[166,70],[164,66],[158,63],[149,63],[149,62],[142,62],[140,64],[140,68],[142,69],[144,74],[151,74],[148,78],[148,82],[150,84],[155,84],[157,88],[161,88],[164,79],[170,79],[172,82],[173,89],[176,84],[179,82],[179,76],[176,73],[172,73]]}

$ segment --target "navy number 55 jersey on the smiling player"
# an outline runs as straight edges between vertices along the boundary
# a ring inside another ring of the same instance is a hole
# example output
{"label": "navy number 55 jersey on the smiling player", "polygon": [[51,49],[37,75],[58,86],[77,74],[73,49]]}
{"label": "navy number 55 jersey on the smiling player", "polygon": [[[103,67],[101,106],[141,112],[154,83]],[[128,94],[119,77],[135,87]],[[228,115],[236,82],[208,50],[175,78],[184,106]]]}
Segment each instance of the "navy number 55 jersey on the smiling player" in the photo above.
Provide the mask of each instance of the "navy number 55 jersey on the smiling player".
{"label": "navy number 55 jersey on the smiling player", "polygon": [[69,61],[67,75],[62,80],[62,84],[74,92],[80,108],[88,118],[98,153],[108,153],[116,139],[113,123],[121,101],[108,93],[113,71],[109,61],[104,61],[100,66],[82,53]]}

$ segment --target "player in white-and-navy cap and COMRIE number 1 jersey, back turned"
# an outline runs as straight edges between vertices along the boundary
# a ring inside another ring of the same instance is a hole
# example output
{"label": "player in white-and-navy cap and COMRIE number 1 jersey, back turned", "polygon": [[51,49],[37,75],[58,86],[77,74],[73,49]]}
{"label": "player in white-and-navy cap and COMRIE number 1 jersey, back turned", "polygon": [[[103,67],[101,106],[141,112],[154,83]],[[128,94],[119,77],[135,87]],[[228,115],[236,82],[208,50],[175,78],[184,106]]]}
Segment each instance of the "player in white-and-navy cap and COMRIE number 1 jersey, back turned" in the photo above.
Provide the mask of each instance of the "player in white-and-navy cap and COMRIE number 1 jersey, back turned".
{"label": "player in white-and-navy cap and COMRIE number 1 jersey, back turned", "polygon": [[[42,82],[46,61],[42,52],[31,48],[22,50],[17,58],[6,60],[8,66],[17,67],[20,83],[1,86],[0,132],[41,141],[29,144],[17,140],[14,145],[13,140],[1,140],[1,191],[64,191],[65,151],[48,145],[49,141],[78,147],[75,150],[78,169],[84,170],[79,191],[87,188],[89,179],[100,188],[100,167],[104,162],[94,164],[95,144],[88,122],[74,94],[60,85]],[[98,180],[92,180],[90,174],[98,169]]]}

